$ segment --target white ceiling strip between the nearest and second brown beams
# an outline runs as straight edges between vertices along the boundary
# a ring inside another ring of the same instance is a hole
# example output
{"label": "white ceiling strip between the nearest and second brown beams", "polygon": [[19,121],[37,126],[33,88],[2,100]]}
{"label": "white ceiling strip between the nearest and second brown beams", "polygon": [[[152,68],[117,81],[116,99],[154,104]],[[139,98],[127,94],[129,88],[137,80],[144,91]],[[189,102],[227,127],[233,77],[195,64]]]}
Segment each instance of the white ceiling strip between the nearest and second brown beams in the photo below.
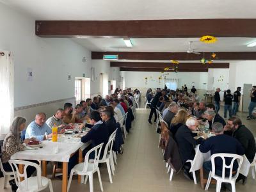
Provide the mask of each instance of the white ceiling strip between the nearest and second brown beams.
{"label": "white ceiling strip between the nearest and second brown beams", "polygon": [[132,48],[126,47],[122,38],[72,38],[90,51],[145,51],[145,52],[186,52],[189,41],[199,52],[256,51],[246,47],[256,38],[218,38],[215,44],[204,44],[199,38],[131,38]]}

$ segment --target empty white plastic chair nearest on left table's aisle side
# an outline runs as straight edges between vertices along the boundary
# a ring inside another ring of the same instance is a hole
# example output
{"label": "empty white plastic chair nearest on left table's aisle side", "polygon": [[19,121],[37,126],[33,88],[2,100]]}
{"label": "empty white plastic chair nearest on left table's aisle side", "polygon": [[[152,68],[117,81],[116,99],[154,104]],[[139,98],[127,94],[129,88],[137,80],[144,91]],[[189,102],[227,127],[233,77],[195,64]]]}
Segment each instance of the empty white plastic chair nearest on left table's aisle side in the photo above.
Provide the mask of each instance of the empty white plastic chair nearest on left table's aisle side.
{"label": "empty white plastic chair nearest on left table's aisle side", "polygon": [[[70,188],[72,177],[73,177],[74,173],[77,173],[77,175],[82,175],[81,183],[83,182],[84,184],[86,184],[86,181],[89,176],[90,192],[93,192],[93,173],[95,173],[95,172],[98,173],[100,189],[101,189],[101,191],[103,191],[101,177],[100,177],[100,169],[98,166],[100,152],[101,152],[103,144],[104,143],[101,143],[100,145],[97,145],[96,147],[93,147],[91,150],[89,150],[84,157],[84,163],[76,164],[76,166],[74,166],[74,168],[72,168],[72,170],[70,172],[70,177],[68,180],[68,191]],[[92,152],[95,152],[94,159],[89,159],[89,156]],[[85,179],[84,179],[84,175],[86,175]]]}

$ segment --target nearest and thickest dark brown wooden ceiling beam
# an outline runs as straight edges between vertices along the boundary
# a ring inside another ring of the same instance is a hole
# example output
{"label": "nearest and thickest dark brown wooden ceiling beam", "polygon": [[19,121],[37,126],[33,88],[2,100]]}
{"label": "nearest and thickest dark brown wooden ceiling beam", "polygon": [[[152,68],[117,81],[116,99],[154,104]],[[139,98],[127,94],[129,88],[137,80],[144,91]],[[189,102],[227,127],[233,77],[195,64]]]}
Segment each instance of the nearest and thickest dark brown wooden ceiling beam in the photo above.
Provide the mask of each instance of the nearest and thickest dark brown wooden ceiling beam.
{"label": "nearest and thickest dark brown wooden ceiling beam", "polygon": [[256,37],[256,19],[36,20],[42,37]]}

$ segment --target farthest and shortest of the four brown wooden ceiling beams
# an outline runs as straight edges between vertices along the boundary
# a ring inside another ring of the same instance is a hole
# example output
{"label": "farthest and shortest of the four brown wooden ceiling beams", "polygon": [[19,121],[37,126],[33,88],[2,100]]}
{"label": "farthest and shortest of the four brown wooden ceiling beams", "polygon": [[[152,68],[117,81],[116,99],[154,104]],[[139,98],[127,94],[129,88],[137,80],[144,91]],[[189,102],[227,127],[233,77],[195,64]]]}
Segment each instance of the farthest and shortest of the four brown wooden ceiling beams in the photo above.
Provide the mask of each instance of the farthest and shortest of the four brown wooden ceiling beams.
{"label": "farthest and shortest of the four brown wooden ceiling beams", "polygon": [[[128,67],[120,67],[120,71],[164,72],[163,68],[128,68]],[[168,70],[165,72],[174,72],[174,71]],[[179,72],[208,72],[208,68],[179,68]]]}

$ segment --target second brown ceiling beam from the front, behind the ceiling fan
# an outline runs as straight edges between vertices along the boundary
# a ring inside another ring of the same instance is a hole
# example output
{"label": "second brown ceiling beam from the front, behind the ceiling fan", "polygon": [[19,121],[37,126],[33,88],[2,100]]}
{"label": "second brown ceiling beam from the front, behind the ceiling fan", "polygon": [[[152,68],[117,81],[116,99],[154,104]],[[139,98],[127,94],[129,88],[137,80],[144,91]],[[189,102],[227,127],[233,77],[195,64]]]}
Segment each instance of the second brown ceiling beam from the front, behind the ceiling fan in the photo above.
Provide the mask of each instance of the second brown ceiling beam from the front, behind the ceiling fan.
{"label": "second brown ceiling beam from the front, behind the ceiling fan", "polygon": [[[256,33],[256,32],[255,32]],[[215,52],[214,60],[256,60],[256,52]],[[203,54],[187,52],[94,52],[92,60],[102,60],[103,54],[118,54],[119,60],[179,60],[200,61]],[[211,58],[212,52],[204,52],[205,60]]]}

